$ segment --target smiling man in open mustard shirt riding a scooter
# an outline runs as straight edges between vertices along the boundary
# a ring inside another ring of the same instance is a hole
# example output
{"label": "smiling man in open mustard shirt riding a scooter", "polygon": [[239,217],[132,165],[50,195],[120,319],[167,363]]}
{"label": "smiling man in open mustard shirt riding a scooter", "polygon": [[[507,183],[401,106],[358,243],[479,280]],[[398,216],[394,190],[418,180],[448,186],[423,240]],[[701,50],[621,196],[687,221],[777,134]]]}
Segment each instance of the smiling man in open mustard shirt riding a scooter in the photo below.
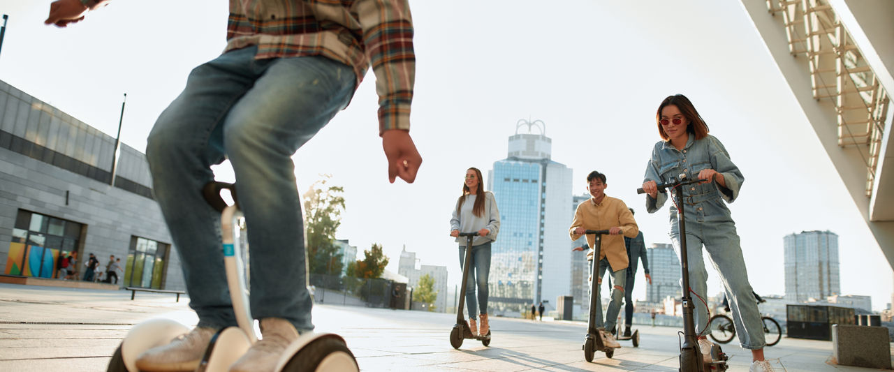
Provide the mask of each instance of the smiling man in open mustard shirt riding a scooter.
{"label": "smiling man in open mustard shirt riding a scooter", "polygon": [[[597,171],[590,172],[586,175],[586,190],[590,192],[592,198],[587,199],[578,205],[578,209],[574,212],[574,221],[571,222],[569,234],[572,241],[577,241],[586,230],[608,230],[609,235],[603,237],[602,250],[599,254],[599,273],[596,278],[597,283],[603,283],[603,275],[605,269],[609,269],[611,273],[611,282],[614,288],[611,290],[611,302],[606,313],[603,324],[603,305],[602,299],[596,295],[596,328],[600,329],[603,343],[611,348],[620,348],[620,343],[615,341],[611,333],[604,332],[605,329],[611,329],[615,326],[620,312],[620,304],[624,300],[624,284],[627,280],[628,258],[627,249],[624,248],[624,236],[628,238],[637,237],[639,227],[637,221],[633,219],[627,205],[623,201],[611,198],[605,195],[605,189],[608,184],[605,182],[605,174]],[[586,235],[586,242],[590,246],[586,258],[593,262],[595,244],[595,236]],[[582,250],[577,248],[575,250]],[[592,266],[591,266],[592,267]],[[592,272],[592,268],[590,272]],[[591,277],[589,280],[593,280]],[[590,294],[594,295],[593,293]],[[592,311],[592,309],[591,309]]]}

